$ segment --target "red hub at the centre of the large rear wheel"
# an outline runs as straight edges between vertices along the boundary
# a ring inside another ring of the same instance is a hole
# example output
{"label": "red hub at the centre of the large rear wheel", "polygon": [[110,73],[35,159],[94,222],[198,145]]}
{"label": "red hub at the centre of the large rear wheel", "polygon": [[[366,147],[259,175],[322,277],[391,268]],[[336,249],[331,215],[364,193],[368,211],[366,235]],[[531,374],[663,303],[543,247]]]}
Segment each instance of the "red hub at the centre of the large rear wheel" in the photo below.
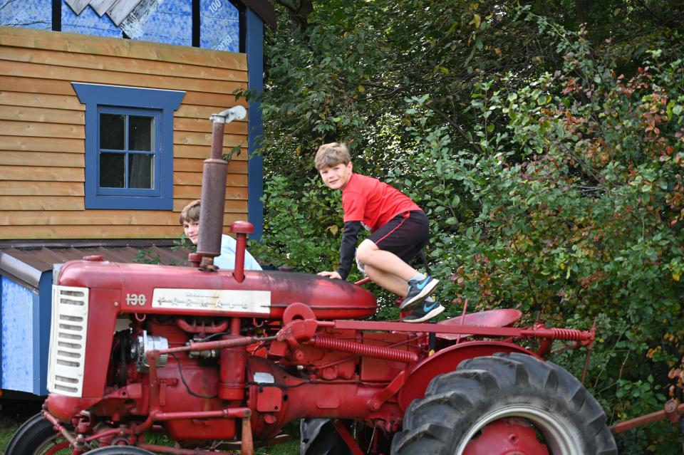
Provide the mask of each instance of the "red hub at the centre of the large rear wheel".
{"label": "red hub at the centre of the large rear wheel", "polygon": [[526,419],[499,419],[471,439],[463,455],[549,455]]}

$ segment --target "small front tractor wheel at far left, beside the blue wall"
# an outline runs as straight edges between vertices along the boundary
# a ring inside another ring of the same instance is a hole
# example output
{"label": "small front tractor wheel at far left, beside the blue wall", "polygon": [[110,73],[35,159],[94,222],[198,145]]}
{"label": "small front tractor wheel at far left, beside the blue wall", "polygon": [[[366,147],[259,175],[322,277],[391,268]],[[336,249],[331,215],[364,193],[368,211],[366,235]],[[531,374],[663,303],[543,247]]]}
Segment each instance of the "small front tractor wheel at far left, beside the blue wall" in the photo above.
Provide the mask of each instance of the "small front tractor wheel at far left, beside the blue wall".
{"label": "small front tractor wheel at far left, beside the blue wall", "polygon": [[[58,446],[63,446],[59,450]],[[43,455],[46,453],[71,454],[68,449],[68,441],[60,433],[56,432],[53,425],[41,414],[36,414],[21,427],[9,440],[5,455]],[[59,450],[53,452],[54,450]]]}

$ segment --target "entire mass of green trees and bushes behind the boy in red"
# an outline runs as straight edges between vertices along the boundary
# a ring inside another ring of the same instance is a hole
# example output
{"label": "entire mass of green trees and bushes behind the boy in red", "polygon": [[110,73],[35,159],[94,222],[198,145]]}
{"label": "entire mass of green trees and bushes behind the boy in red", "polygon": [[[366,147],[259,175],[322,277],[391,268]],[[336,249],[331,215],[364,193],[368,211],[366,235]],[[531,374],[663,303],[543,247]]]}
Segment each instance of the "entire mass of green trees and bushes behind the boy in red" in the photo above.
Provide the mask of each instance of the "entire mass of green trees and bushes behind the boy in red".
{"label": "entire mass of green trees and bushes behind the boy in red", "polygon": [[[596,323],[586,384],[611,422],[661,409],[684,376],[682,13],[660,0],[314,4],[267,47],[266,229],[252,251],[336,268],[338,194],[312,158],[350,142],[355,170],[427,212],[447,315]],[[378,317],[395,318],[380,300]],[[552,360],[579,377],[585,353]],[[621,453],[678,453],[673,431],[618,436]]]}

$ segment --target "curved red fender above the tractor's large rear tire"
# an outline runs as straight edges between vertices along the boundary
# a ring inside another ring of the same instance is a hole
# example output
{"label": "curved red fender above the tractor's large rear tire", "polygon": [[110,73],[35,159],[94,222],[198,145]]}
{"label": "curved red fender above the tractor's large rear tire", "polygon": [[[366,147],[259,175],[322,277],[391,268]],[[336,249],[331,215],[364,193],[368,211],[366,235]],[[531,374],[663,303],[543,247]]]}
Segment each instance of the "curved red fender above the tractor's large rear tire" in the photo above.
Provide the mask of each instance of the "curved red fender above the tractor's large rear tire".
{"label": "curved red fender above the tractor's large rear tire", "polygon": [[408,373],[404,386],[398,394],[399,407],[402,411],[405,411],[414,399],[423,398],[427,385],[430,384],[430,381],[434,377],[456,370],[456,367],[463,360],[494,355],[497,352],[520,352],[544,360],[536,353],[510,342],[461,342],[457,345],[446,347],[445,349],[436,352],[434,355],[430,355],[430,357],[425,357],[425,359],[412,367],[411,371]]}

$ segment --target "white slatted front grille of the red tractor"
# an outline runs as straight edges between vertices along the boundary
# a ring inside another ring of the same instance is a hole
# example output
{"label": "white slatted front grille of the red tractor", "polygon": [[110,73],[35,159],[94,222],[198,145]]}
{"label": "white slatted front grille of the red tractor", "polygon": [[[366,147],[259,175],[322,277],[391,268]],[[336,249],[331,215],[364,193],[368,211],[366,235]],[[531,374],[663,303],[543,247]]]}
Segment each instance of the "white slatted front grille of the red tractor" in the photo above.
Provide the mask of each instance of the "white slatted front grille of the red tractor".
{"label": "white slatted front grille of the red tractor", "polygon": [[88,288],[52,286],[48,391],[81,397],[88,329]]}

